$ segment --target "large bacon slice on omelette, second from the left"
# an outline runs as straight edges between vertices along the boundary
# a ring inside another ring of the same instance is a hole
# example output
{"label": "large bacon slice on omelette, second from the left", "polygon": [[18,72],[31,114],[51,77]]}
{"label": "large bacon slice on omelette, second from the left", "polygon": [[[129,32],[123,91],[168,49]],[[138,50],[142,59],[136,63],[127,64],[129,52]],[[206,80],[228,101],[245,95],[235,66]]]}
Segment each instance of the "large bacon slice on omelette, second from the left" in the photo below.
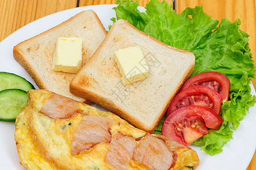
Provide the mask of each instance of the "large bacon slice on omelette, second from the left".
{"label": "large bacon slice on omelette, second from the left", "polygon": [[110,128],[113,124],[119,124],[108,117],[99,115],[83,116],[73,135],[71,154],[77,155],[89,150],[100,142],[110,143]]}

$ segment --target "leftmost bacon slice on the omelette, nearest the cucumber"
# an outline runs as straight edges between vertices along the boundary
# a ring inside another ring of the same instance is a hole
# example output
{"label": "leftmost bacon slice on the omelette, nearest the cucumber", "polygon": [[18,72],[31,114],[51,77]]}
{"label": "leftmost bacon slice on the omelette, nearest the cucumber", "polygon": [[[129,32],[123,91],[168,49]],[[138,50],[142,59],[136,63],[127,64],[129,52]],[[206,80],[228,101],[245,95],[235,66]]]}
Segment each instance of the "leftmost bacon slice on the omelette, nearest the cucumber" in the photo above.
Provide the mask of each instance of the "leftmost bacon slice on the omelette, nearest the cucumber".
{"label": "leftmost bacon slice on the omelette, nearest the cucumber", "polygon": [[51,118],[69,118],[79,112],[78,102],[68,97],[52,94],[40,109],[40,113]]}

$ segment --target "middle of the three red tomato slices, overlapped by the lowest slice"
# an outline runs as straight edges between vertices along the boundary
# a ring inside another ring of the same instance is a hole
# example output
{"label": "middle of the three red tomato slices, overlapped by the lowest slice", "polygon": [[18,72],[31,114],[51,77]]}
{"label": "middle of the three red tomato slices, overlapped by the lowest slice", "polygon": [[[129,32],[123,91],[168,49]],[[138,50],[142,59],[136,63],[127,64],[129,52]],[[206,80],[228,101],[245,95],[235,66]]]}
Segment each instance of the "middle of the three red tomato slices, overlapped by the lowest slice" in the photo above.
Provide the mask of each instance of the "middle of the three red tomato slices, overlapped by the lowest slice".
{"label": "middle of the three red tomato slices, overlapped by the lowest slice", "polygon": [[178,108],[187,105],[199,105],[212,109],[214,112],[220,114],[220,107],[222,103],[221,96],[212,88],[207,86],[192,86],[185,88],[178,93],[171,101],[166,117]]}

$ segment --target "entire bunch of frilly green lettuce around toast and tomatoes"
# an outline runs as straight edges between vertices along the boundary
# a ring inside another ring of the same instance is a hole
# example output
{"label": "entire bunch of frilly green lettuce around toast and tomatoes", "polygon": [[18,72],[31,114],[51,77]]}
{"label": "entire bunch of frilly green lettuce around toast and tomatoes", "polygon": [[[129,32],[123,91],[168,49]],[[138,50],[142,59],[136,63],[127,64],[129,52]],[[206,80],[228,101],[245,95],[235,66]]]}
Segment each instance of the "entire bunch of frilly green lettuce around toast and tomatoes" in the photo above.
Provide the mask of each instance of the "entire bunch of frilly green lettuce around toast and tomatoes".
{"label": "entire bunch of frilly green lettuce around toast and tomatoes", "polygon": [[[137,0],[116,2],[113,22],[125,19],[165,44],[194,53],[196,62],[191,76],[205,71],[219,71],[228,76],[229,101],[223,103],[220,113],[224,123],[194,142],[209,155],[219,154],[225,143],[232,139],[233,130],[256,103],[249,86],[250,78],[255,78],[256,67],[251,59],[249,35],[239,29],[240,20],[233,23],[223,19],[217,27],[219,21],[205,14],[202,6],[187,7],[181,14],[176,14],[166,1],[151,0],[146,4],[145,12],[137,10]],[[164,120],[165,117],[154,133],[161,134]]]}

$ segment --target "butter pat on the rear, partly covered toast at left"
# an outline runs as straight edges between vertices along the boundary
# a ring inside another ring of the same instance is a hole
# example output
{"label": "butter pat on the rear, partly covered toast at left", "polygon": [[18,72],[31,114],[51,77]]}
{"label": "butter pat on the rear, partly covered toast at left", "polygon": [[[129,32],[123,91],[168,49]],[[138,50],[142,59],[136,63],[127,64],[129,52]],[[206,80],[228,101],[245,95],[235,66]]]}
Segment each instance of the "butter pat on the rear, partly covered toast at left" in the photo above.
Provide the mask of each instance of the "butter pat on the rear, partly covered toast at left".
{"label": "butter pat on the rear, partly covered toast at left", "polygon": [[53,55],[52,70],[78,73],[82,67],[81,37],[59,37]]}

